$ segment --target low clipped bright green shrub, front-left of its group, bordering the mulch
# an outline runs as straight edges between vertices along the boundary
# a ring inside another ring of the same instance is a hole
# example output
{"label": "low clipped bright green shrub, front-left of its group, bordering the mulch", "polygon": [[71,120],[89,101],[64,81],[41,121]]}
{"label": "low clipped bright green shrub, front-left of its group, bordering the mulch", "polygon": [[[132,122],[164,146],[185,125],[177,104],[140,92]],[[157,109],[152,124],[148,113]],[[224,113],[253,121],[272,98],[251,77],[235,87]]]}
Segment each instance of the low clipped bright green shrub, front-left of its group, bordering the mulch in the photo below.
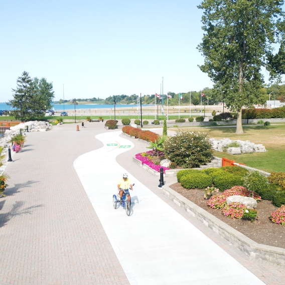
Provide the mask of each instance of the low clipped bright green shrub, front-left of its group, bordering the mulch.
{"label": "low clipped bright green shrub, front-left of its group, bordering the mulch", "polygon": [[207,186],[212,186],[212,177],[204,173],[193,173],[182,176],[181,186],[186,189],[199,188],[203,189]]}

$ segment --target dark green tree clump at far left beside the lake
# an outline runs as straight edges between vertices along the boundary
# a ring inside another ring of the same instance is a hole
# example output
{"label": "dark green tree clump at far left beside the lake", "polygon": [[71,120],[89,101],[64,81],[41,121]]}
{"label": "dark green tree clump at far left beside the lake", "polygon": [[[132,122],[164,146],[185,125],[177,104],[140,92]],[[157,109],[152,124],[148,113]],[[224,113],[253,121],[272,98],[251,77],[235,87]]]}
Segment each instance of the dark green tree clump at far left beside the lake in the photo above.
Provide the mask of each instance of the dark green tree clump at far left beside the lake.
{"label": "dark green tree clump at far left beside the lake", "polygon": [[[17,88],[13,90],[13,98],[8,105],[15,108],[12,115],[21,121],[43,119],[46,109],[51,107],[53,98],[52,83],[45,78],[32,79],[24,71],[17,79]],[[45,107],[46,106],[46,107]]]}

